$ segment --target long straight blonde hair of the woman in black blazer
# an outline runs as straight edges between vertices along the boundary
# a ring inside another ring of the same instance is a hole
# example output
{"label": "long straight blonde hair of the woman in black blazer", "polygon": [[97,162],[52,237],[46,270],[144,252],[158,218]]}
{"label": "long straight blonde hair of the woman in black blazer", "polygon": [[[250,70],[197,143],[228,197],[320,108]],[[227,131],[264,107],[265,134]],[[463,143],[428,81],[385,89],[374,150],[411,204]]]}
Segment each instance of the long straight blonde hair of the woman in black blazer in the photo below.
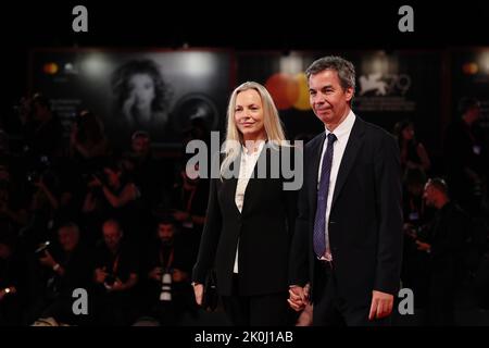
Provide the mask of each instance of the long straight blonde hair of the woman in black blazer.
{"label": "long straight blonde hair of the woman in black blazer", "polygon": [[286,139],[278,110],[275,107],[268,90],[255,82],[246,82],[241,84],[233,91],[227,107],[226,139],[224,142],[224,160],[221,165],[221,176],[223,176],[224,171],[238,157],[240,146],[243,145],[242,134],[239,132],[235,121],[235,108],[238,95],[250,89],[256,90],[262,100],[264,126],[268,142],[272,146],[278,146]]}

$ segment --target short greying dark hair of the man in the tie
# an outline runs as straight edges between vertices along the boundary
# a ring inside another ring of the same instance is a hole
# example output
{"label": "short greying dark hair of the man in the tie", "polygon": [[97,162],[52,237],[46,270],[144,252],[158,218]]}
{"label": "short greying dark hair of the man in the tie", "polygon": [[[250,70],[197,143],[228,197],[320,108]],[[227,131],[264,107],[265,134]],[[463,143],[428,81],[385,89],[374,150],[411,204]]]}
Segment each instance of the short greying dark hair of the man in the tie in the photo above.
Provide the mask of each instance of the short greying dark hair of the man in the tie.
{"label": "short greying dark hair of the man in the tie", "polygon": [[305,76],[318,74],[325,70],[334,70],[338,73],[338,77],[343,89],[349,87],[355,90],[355,67],[346,59],[337,55],[328,55],[314,61],[305,71]]}

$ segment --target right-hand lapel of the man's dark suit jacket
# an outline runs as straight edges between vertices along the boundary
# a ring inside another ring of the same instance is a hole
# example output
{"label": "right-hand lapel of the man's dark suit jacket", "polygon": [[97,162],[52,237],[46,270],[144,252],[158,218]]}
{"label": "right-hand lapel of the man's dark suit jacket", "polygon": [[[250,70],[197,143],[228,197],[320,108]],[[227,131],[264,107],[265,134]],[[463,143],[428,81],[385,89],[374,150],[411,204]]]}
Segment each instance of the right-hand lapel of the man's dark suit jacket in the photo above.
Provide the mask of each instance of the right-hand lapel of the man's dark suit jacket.
{"label": "right-hand lapel of the man's dark suit jacket", "polygon": [[[348,174],[350,174],[351,169],[355,162],[359,150],[363,142],[364,125],[363,121],[359,117],[355,119],[353,128],[351,129],[350,138],[348,139],[347,148],[344,149],[343,158],[341,159],[341,164],[338,171],[338,176],[335,185],[335,192],[333,195],[331,209],[335,207],[335,202],[338,199],[341,189],[347,182]],[[316,173],[317,175],[317,173]]]}

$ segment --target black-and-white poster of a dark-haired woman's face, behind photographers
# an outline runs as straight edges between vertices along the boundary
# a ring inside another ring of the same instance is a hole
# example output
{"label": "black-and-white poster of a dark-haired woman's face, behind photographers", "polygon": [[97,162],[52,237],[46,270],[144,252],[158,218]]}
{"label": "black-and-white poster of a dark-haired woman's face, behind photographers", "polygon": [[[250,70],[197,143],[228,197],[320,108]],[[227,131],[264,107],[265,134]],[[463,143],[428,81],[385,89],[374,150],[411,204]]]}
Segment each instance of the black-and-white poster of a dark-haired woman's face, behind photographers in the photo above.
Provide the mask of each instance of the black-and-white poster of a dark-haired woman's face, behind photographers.
{"label": "black-and-white poster of a dark-haired woman's face, behind photographers", "polygon": [[66,132],[84,109],[124,146],[136,130],[175,146],[196,119],[220,129],[230,89],[224,50],[34,50],[30,88],[42,90]]}

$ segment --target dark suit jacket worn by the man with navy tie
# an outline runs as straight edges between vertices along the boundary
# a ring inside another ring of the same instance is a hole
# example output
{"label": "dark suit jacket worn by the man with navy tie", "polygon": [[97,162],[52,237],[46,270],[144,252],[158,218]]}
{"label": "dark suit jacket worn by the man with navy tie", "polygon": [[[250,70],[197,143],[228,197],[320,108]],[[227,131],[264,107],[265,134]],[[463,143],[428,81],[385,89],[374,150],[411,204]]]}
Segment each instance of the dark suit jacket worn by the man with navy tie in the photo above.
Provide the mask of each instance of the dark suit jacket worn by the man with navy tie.
{"label": "dark suit jacket worn by the man with navy tie", "polygon": [[[311,283],[315,272],[313,226],[323,132],[304,148],[304,185],[290,258],[290,284]],[[339,167],[328,223],[338,294],[368,306],[372,290],[394,295],[402,258],[402,201],[399,149],[381,128],[356,117]]]}

